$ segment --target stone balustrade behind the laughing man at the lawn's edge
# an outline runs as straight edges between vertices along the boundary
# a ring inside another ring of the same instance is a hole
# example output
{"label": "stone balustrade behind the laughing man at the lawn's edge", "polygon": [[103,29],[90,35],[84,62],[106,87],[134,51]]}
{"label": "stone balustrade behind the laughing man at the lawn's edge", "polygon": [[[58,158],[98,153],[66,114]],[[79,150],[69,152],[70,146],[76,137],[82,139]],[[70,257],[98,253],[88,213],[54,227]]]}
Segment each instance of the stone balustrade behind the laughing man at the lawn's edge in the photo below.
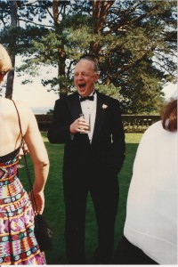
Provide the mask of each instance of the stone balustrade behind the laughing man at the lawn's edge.
{"label": "stone balustrade behind the laughing man at the lawn's edge", "polygon": [[[36,115],[40,131],[47,131],[53,115]],[[122,115],[125,133],[143,133],[150,125],[157,122],[159,116]]]}

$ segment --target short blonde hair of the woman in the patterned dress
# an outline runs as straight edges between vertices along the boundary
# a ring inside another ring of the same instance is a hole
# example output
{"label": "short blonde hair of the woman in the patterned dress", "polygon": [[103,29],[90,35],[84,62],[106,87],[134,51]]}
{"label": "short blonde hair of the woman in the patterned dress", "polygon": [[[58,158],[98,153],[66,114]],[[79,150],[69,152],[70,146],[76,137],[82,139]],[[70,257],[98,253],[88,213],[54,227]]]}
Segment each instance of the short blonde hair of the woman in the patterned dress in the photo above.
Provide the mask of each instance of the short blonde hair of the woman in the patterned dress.
{"label": "short blonde hair of the woman in the patterned dress", "polygon": [[12,61],[6,49],[0,44],[0,71],[9,71],[12,69]]}

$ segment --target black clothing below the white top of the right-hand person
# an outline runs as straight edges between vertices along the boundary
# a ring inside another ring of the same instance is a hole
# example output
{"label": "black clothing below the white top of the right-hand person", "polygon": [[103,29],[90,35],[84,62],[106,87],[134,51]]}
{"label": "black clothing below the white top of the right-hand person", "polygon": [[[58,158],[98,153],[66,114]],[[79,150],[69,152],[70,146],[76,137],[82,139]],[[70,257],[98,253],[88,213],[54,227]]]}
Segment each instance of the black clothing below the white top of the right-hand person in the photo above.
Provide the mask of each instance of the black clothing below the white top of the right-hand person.
{"label": "black clothing below the white top of the right-hand person", "polygon": [[125,236],[118,243],[117,250],[114,256],[114,264],[158,264],[154,262],[148,255],[144,254],[142,250],[130,243]]}

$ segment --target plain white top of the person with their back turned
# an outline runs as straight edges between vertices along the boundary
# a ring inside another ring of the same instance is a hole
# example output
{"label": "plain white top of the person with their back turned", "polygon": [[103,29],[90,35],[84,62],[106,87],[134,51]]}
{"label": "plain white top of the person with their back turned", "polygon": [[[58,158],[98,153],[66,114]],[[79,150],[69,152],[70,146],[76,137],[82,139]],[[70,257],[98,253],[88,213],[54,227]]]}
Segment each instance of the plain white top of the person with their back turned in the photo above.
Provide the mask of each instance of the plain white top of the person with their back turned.
{"label": "plain white top of the person with their back turned", "polygon": [[177,264],[177,132],[158,121],[134,160],[124,234],[159,264]]}

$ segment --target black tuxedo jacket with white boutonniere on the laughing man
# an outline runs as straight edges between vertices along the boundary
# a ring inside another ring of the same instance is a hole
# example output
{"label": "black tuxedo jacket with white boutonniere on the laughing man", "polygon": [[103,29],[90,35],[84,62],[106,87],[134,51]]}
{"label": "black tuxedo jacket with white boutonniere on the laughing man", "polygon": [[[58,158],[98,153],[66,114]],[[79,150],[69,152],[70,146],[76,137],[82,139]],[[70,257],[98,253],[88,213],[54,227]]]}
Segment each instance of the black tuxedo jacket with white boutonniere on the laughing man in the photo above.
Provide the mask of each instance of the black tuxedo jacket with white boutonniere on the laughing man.
{"label": "black tuxedo jacket with white boutonniere on the laughing man", "polygon": [[[51,143],[64,143],[63,178],[84,180],[90,177],[117,176],[125,159],[125,134],[119,102],[103,93],[97,93],[97,106],[92,143],[88,134],[69,132],[69,126],[82,113],[77,93],[57,100],[53,123],[48,131]],[[86,171],[87,170],[87,171]],[[95,178],[94,178],[95,179]],[[99,179],[99,178],[97,178]]]}

